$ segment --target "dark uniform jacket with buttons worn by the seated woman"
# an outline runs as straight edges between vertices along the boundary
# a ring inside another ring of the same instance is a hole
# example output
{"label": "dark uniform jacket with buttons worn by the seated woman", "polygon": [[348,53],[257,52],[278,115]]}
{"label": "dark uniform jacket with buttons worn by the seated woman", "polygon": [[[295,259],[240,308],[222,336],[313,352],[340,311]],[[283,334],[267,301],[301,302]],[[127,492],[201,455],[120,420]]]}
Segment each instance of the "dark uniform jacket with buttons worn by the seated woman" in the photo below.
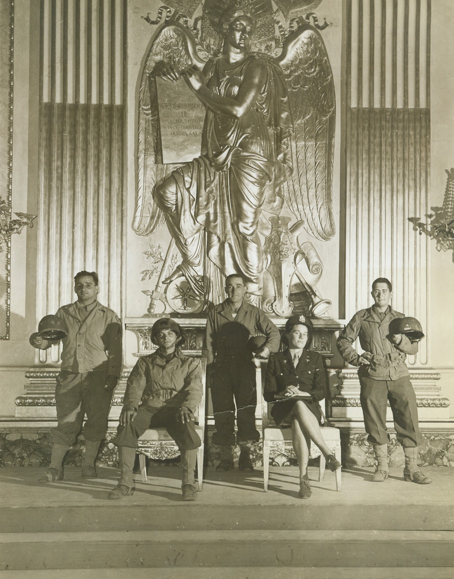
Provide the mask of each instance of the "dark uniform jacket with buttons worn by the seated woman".
{"label": "dark uniform jacket with buttons worn by the seated woman", "polygon": [[313,402],[323,400],[326,397],[326,380],[322,356],[318,352],[303,349],[295,368],[289,350],[272,354],[265,373],[265,400],[273,402],[274,395],[281,393],[287,386],[298,386],[302,392],[308,392]]}

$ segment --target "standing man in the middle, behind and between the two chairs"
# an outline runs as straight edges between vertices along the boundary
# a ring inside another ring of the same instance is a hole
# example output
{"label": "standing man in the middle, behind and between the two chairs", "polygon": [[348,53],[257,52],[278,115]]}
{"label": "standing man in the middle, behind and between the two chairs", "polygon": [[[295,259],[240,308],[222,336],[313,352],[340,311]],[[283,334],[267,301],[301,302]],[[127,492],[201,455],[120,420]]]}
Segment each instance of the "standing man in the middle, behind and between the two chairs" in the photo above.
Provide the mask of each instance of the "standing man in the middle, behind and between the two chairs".
{"label": "standing man in the middle, behind and between the two chairs", "polygon": [[[279,350],[278,328],[258,307],[244,301],[245,282],[237,273],[226,278],[227,299],[213,307],[206,320],[202,354],[212,364],[211,400],[216,432],[213,442],[222,446],[222,460],[217,471],[233,468],[233,447],[240,446],[238,467],[252,471],[250,446],[260,439],[256,428],[256,368],[248,347],[250,338],[265,335],[265,342],[255,353],[267,360]],[[237,437],[235,439],[235,403],[237,405]]]}

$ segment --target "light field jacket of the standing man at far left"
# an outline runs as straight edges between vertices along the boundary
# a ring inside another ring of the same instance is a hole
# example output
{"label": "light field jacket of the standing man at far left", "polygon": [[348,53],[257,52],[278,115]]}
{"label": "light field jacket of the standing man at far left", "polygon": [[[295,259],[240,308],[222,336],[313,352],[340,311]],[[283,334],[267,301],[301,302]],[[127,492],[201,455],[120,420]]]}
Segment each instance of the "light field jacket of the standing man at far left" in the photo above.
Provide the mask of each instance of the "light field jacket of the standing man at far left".
{"label": "light field jacket of the standing man at far left", "polygon": [[[79,302],[58,309],[57,316],[64,321],[68,335],[61,340],[61,370],[74,373],[121,373],[121,324],[117,314],[98,301],[82,321]],[[51,343],[55,342],[50,342]]]}

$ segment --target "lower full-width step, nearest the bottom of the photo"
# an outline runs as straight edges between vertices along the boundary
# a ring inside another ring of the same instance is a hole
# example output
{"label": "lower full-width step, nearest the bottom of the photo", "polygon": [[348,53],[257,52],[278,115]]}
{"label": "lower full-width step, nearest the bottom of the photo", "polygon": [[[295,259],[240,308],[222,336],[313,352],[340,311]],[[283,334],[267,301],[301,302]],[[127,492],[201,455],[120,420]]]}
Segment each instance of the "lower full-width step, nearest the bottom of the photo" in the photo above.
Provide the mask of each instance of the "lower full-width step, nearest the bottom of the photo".
{"label": "lower full-width step, nearest the bottom of the photo", "polygon": [[449,567],[454,534],[426,531],[114,531],[0,534],[0,569]]}

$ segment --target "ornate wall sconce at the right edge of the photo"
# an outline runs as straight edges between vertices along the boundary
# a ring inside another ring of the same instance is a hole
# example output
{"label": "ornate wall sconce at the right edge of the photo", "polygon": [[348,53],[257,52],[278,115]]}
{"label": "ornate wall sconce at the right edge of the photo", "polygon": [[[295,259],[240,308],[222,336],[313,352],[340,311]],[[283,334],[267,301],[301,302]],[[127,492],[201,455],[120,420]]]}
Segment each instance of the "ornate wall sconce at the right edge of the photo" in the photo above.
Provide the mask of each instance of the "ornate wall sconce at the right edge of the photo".
{"label": "ornate wall sconce at the right edge of the photo", "polygon": [[427,215],[430,218],[430,226],[420,221],[418,217],[410,219],[419,229],[420,235],[425,233],[437,241],[438,251],[454,251],[454,168],[446,169],[446,175],[448,175],[448,180],[443,207],[431,208],[433,213]]}

